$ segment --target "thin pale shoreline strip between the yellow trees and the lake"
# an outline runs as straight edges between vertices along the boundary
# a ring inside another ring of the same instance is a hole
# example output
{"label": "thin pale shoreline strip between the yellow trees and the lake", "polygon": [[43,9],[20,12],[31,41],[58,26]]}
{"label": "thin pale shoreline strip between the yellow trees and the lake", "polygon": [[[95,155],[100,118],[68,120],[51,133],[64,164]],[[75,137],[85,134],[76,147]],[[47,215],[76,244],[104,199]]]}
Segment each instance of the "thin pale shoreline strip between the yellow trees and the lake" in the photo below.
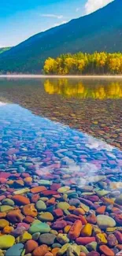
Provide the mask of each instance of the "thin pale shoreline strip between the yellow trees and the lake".
{"label": "thin pale shoreline strip between the yellow trees and the lake", "polygon": [[122,75],[65,75],[65,76],[60,76],[60,75],[35,75],[35,74],[21,74],[21,75],[0,75],[0,78],[74,78],[74,79],[91,79],[91,78],[98,78],[98,79],[122,79]]}

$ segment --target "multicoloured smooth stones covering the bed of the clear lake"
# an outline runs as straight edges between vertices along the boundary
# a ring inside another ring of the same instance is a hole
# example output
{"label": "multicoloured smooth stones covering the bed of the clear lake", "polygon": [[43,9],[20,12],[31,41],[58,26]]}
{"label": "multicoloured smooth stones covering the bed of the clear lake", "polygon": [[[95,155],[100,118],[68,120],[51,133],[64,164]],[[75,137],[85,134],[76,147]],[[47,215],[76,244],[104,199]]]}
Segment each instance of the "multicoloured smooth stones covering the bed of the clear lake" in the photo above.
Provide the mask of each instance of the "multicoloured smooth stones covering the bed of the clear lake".
{"label": "multicoloured smooth stones covering the bed of the clear lake", "polygon": [[[38,90],[41,87],[39,84]],[[46,90],[49,87],[50,80],[45,84]],[[60,90],[61,87],[60,84]],[[65,90],[65,82],[63,88]],[[18,96],[15,95],[16,90],[13,90],[16,103],[22,91],[21,87],[17,90]],[[80,96],[83,90],[86,92],[84,87],[79,88],[78,85]],[[69,92],[70,88],[65,93]],[[91,95],[91,92],[87,91],[87,94]],[[33,88],[32,95],[35,98]],[[24,96],[27,97],[26,87]],[[68,101],[70,114],[65,118],[67,109],[65,112],[59,111],[60,106],[65,108],[65,104],[60,104],[61,95],[58,95],[57,104],[55,94],[55,108],[52,111],[54,121],[50,121],[54,96],[51,93],[50,99],[48,96],[46,92],[43,102],[44,95],[40,100],[38,93],[35,100],[38,111],[34,104],[35,108],[31,110],[33,113],[28,111],[32,98],[31,101],[28,97],[24,99],[27,103],[25,109],[17,104],[1,106],[0,102],[0,256],[120,254],[122,153],[117,148],[122,149],[120,117],[118,119],[116,116],[115,123],[111,123],[117,100],[114,104],[111,104],[112,98],[111,101],[93,99],[92,104],[87,101],[89,109],[83,117],[85,98],[82,99],[81,107],[80,98],[75,100],[68,97],[64,103]],[[13,102],[11,97],[9,94],[9,101]],[[77,102],[77,114],[71,111],[73,102]],[[105,124],[102,120],[104,117],[99,120],[98,104],[101,111],[104,110],[103,116],[106,109],[110,109]],[[105,105],[105,109],[102,105]],[[116,115],[118,109],[121,109],[120,101],[118,106]],[[42,117],[40,109],[42,113],[44,111],[44,117],[49,114],[49,119]],[[60,115],[62,122],[65,118],[65,122],[69,121],[70,126],[76,125],[80,132],[57,122]],[[93,136],[81,132],[83,129]],[[96,135],[108,143],[95,139]],[[120,146],[117,146],[118,143]]]}

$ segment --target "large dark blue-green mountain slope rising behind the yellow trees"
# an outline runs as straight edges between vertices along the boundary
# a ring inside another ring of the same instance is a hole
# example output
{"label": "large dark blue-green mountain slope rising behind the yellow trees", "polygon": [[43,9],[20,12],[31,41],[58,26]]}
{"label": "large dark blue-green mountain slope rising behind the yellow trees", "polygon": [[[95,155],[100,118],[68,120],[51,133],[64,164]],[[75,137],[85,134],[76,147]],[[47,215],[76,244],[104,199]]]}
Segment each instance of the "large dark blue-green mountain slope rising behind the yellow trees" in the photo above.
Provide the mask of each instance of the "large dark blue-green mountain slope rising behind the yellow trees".
{"label": "large dark blue-green mountain slope rising behind the yellow trees", "polygon": [[0,71],[41,72],[48,57],[95,50],[122,51],[122,0],[31,36],[0,54]]}

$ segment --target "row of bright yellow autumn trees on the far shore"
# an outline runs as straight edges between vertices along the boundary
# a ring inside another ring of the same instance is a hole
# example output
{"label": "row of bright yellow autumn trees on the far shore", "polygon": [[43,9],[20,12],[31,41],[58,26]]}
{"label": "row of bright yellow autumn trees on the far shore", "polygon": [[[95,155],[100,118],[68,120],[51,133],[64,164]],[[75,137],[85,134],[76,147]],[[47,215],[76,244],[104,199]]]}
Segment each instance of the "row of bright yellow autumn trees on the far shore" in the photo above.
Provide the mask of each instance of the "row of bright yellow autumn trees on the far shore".
{"label": "row of bright yellow autumn trees on the far shore", "polygon": [[122,74],[122,53],[61,54],[57,58],[47,58],[43,69],[52,75]]}

